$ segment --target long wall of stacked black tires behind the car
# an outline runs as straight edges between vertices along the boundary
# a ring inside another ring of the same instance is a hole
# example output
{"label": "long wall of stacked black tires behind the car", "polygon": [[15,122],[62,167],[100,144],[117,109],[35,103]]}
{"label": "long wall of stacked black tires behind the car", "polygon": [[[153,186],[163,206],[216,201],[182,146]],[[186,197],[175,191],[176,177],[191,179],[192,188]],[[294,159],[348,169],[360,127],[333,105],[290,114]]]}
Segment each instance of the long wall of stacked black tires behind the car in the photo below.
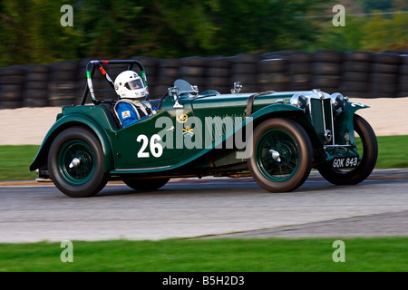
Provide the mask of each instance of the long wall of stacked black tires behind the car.
{"label": "long wall of stacked black tires behind the car", "polygon": [[[408,51],[384,53],[306,52],[240,53],[234,56],[157,59],[133,57],[146,69],[151,99],[160,98],[176,79],[199,86],[199,92],[228,93],[234,82],[241,92],[341,92],[351,98],[408,97]],[[0,68],[0,109],[79,104],[86,83],[79,62],[15,65]],[[124,70],[105,66],[112,80]],[[112,90],[95,71],[96,90]],[[116,99],[114,92],[96,92],[101,99]]]}

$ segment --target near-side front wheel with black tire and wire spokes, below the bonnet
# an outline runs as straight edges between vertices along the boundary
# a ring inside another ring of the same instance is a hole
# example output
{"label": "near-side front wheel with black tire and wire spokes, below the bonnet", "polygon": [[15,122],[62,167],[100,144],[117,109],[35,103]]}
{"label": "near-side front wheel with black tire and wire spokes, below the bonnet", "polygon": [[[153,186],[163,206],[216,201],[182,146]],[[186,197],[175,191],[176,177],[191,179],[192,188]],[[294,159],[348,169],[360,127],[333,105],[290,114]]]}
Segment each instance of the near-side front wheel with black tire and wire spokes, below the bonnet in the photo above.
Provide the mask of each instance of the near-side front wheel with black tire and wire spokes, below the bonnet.
{"label": "near-side front wheel with black tire and wire spokes, below the bonnet", "polygon": [[297,189],[312,168],[312,143],[296,121],[284,118],[263,121],[254,131],[251,150],[248,169],[257,184],[270,192]]}

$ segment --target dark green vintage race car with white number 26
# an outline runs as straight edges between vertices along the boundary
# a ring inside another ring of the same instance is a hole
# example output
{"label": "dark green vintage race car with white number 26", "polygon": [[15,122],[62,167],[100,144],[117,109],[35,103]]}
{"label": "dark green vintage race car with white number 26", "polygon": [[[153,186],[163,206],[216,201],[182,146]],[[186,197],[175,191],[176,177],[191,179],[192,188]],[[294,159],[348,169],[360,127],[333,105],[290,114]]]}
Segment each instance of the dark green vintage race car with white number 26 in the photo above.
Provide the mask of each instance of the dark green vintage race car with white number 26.
{"label": "dark green vintage race car with white number 26", "polygon": [[[44,138],[31,170],[52,179],[65,195],[98,193],[108,180],[123,180],[132,189],[154,190],[174,178],[249,177],[271,192],[301,186],[312,168],[328,181],[357,184],[377,159],[371,126],[355,111],[367,108],[341,93],[199,92],[177,80],[149,118],[121,128],[113,110],[118,97],[99,100],[93,74],[104,68],[143,65],[136,60],[92,61],[80,105],[64,106]],[[92,103],[86,103],[91,95]]]}

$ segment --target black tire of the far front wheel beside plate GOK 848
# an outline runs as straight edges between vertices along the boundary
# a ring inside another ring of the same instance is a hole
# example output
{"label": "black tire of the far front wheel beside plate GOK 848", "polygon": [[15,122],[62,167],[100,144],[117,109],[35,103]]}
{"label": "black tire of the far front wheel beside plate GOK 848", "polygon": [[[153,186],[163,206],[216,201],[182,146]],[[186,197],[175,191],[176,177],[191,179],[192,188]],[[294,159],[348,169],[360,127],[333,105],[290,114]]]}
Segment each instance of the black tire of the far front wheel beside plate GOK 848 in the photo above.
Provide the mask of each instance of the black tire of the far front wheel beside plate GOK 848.
{"label": "black tire of the far front wheel beside plate GOK 848", "polygon": [[373,128],[359,115],[355,115],[354,124],[355,131],[363,143],[363,157],[355,169],[333,169],[328,164],[317,168],[327,181],[336,185],[353,185],[362,182],[371,174],[377,161],[378,144]]}

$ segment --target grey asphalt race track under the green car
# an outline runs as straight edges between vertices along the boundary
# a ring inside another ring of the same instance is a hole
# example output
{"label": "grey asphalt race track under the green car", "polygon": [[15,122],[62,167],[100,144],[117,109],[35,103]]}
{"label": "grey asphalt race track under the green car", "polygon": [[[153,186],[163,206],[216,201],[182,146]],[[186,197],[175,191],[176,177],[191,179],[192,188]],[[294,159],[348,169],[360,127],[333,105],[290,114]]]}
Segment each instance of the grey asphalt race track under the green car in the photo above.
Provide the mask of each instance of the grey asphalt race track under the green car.
{"label": "grey asphalt race track under the green car", "polygon": [[408,236],[408,169],[377,169],[356,186],[317,172],[294,192],[253,179],[180,179],[155,192],[109,184],[68,198],[53,184],[0,182],[0,242],[171,237]]}

